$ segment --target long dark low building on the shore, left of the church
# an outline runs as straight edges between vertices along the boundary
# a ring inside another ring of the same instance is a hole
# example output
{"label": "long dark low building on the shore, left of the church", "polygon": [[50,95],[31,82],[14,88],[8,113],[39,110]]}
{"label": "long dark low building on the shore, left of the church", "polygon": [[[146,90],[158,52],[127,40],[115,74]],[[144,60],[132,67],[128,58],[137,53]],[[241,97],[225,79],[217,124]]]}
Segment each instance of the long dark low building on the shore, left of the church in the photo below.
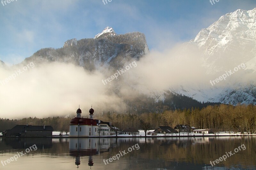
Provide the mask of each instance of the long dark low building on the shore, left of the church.
{"label": "long dark low building on the shore, left of the church", "polygon": [[16,125],[5,130],[3,137],[52,137],[52,126]]}

